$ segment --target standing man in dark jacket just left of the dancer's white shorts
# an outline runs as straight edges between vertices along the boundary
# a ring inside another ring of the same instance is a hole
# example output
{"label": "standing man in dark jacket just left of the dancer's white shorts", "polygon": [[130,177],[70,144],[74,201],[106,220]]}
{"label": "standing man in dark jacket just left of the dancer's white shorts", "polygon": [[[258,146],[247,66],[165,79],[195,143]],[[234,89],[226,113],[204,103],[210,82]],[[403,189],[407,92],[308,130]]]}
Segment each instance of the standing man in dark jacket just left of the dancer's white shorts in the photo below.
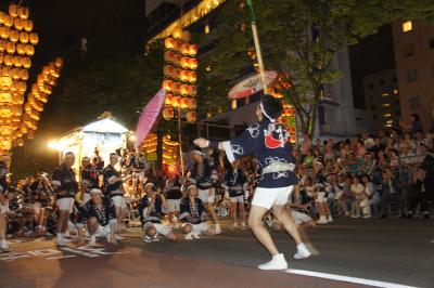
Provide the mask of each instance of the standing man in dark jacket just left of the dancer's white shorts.
{"label": "standing man in dark jacket just left of the dancer's white shorts", "polygon": [[230,204],[232,206],[233,225],[232,230],[237,230],[238,210],[241,212],[241,230],[245,230],[245,209],[244,209],[244,191],[247,188],[247,178],[240,168],[240,160],[232,163],[232,168],[226,173],[224,187],[229,192]]}

